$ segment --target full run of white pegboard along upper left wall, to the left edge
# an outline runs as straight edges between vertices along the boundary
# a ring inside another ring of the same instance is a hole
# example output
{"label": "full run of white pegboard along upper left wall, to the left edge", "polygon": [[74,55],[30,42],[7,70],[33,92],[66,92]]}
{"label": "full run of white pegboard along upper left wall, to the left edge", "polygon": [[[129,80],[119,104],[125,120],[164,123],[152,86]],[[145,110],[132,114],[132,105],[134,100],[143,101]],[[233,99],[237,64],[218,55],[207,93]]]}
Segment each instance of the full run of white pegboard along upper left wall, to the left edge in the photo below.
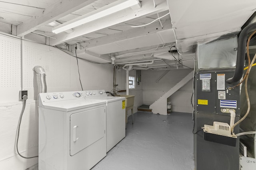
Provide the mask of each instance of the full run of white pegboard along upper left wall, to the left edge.
{"label": "full run of white pegboard along upper left wall, to the left edge", "polygon": [[[36,99],[36,76],[34,66],[39,65],[46,71],[46,85],[50,91],[81,90],[76,57],[72,57],[54,47],[28,41],[24,42],[23,75],[21,70],[21,40],[0,37],[1,88],[29,90],[29,98]],[[84,90],[113,88],[113,65],[94,64],[78,59],[81,81]],[[121,80],[118,78],[118,80]],[[18,95],[18,94],[17,94]],[[31,96],[33,95],[33,96]]]}

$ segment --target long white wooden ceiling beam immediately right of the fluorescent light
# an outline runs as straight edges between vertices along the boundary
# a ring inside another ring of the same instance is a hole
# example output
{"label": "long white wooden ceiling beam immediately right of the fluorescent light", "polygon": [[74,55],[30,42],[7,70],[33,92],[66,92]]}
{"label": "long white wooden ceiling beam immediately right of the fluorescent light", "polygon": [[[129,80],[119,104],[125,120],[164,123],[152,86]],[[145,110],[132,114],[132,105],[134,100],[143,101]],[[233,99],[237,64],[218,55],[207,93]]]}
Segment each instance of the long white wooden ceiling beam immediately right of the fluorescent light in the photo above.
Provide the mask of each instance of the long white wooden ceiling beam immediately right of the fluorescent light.
{"label": "long white wooden ceiling beam immediately right of the fluorescent light", "polygon": [[140,18],[144,18],[146,16],[150,16],[159,12],[168,11],[169,8],[166,0],[155,1],[157,4],[156,8],[154,8],[153,1],[143,1],[141,2],[142,7],[138,10],[132,10],[130,8],[127,8],[126,10],[116,12],[101,19],[91,21],[90,23],[86,23],[79,27],[76,27],[73,29],[73,33],[59,33],[58,35],[54,36],[54,38],[57,39],[52,40],[50,42],[50,45],[58,45],[66,41],[82,37],[85,34],[116,25],[118,23],[138,20]]}

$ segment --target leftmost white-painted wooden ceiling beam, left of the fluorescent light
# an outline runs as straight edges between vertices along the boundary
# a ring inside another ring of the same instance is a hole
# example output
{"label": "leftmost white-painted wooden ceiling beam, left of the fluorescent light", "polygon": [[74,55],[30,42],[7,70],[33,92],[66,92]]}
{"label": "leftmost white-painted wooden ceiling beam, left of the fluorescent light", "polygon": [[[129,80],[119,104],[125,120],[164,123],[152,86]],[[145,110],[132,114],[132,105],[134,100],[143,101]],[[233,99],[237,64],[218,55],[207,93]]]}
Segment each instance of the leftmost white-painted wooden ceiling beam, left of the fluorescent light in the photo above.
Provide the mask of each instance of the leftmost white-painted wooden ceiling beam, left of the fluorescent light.
{"label": "leftmost white-painted wooden ceiling beam, left of the fluorescent light", "polygon": [[95,2],[96,0],[61,0],[46,8],[42,14],[27,20],[17,26],[17,35],[22,37],[36,29],[58,20],[76,10]]}

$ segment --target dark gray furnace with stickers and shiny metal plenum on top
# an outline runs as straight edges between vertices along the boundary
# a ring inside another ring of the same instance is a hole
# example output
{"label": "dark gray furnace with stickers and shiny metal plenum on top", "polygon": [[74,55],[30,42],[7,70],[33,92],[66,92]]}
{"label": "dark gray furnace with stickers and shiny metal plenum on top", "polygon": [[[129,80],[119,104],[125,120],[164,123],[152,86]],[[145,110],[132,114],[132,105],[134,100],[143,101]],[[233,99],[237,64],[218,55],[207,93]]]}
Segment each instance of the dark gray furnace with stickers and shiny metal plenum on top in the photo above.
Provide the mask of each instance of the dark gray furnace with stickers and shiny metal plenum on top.
{"label": "dark gray furnace with stickers and shiny metal plenum on top", "polygon": [[[240,117],[234,75],[237,36],[198,43],[195,74],[194,158],[196,170],[239,170],[239,139],[230,129]],[[204,129],[202,129],[204,128]],[[239,126],[234,128],[239,133]]]}

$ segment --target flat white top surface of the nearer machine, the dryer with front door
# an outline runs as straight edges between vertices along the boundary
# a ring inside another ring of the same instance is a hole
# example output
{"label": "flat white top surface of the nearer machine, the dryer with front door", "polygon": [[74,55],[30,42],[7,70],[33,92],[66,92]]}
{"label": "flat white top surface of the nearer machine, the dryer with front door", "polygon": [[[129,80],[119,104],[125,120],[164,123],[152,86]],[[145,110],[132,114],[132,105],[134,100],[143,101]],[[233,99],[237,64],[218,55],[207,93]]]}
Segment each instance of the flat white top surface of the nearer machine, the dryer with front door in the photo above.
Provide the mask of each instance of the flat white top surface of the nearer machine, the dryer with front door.
{"label": "flat white top surface of the nearer machine, the dryer with front door", "polygon": [[64,101],[57,101],[57,102],[48,102],[42,103],[44,108],[47,109],[54,109],[59,111],[73,111],[77,109],[83,109],[92,106],[98,106],[101,104],[106,104],[105,101],[98,101],[98,100],[88,100],[88,99],[76,99],[76,100],[64,100]]}

